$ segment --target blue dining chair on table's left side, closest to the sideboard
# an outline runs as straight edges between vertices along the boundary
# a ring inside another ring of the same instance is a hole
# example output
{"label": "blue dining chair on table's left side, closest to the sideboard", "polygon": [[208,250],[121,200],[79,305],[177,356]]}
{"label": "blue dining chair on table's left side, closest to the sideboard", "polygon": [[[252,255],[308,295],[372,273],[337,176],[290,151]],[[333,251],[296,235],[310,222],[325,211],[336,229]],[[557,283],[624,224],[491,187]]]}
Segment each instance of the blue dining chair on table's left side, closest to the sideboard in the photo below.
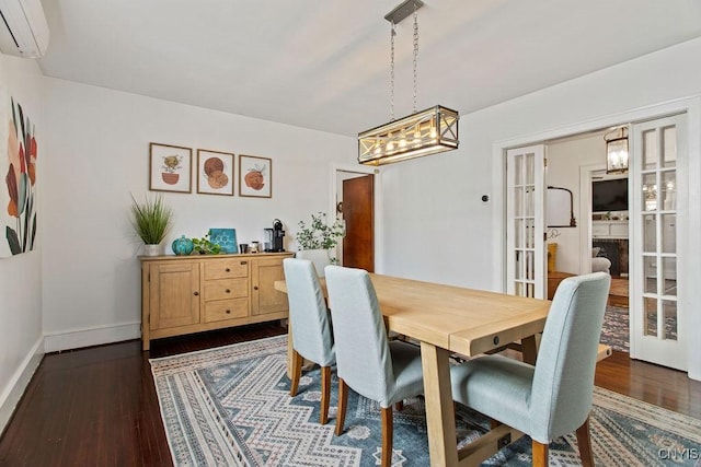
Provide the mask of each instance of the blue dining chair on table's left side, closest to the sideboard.
{"label": "blue dining chair on table's left side, closest to the sideboard", "polygon": [[336,361],[331,320],[317,270],[308,259],[283,260],[289,322],[292,329],[292,364],[289,395],[295,397],[302,372],[302,360],[321,366],[321,410],[319,421],[329,420],[331,398],[331,365]]}

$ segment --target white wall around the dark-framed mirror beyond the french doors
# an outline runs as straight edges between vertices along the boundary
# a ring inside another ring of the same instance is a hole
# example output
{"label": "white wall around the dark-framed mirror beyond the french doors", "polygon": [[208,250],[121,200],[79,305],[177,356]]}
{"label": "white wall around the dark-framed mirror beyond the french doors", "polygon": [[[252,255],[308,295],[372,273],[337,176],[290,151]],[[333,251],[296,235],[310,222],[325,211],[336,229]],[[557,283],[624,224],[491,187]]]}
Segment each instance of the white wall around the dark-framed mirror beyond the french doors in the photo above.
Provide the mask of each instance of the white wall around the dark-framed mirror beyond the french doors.
{"label": "white wall around the dark-framed mirror beyond the french doors", "polygon": [[[548,243],[558,244],[555,270],[581,273],[583,269],[579,233],[586,227],[588,212],[581,212],[579,167],[602,164],[605,162],[606,142],[601,135],[587,135],[581,138],[568,138],[547,144],[548,170],[545,184],[572,190],[574,218],[576,227],[556,227],[560,235]],[[590,267],[590,265],[588,265]]]}

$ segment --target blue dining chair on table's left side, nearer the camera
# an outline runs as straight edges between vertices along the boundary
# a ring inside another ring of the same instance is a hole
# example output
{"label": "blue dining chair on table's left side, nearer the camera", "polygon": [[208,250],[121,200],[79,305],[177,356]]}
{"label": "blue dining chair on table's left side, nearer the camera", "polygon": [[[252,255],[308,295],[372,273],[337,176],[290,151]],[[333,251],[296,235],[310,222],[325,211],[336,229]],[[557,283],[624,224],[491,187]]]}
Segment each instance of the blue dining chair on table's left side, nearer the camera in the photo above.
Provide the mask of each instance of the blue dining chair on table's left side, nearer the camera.
{"label": "blue dining chair on table's left side, nearer the camera", "polygon": [[368,272],[326,266],[326,289],[336,343],[338,413],[336,435],[343,432],[348,387],[380,404],[382,465],[392,460],[392,405],[424,393],[421,351],[402,341],[390,342]]}

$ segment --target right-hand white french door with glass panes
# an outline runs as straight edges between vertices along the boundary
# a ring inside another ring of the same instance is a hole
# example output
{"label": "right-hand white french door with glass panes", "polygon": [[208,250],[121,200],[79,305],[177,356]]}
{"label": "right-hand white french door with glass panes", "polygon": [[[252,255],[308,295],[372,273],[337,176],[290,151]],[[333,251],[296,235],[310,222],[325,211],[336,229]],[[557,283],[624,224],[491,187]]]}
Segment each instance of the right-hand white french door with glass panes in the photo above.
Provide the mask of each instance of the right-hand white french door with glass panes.
{"label": "right-hand white french door with glass panes", "polygon": [[678,115],[633,125],[630,157],[631,357],[682,371],[686,310],[679,291],[686,284],[677,238],[689,212],[686,124],[686,115]]}

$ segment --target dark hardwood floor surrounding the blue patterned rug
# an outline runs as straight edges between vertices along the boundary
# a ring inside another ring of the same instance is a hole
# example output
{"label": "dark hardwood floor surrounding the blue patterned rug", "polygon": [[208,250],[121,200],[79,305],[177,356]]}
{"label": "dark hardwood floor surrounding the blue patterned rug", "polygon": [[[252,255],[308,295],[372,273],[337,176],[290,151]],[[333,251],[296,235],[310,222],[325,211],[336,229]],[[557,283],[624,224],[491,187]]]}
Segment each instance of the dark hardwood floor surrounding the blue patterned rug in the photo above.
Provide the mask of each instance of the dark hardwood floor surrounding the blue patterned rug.
{"label": "dark hardwood floor surrounding the blue patterned rug", "polygon": [[[47,354],[0,437],[0,466],[170,466],[149,358],[285,334],[277,323]],[[701,418],[701,383],[614,352],[596,384]]]}

